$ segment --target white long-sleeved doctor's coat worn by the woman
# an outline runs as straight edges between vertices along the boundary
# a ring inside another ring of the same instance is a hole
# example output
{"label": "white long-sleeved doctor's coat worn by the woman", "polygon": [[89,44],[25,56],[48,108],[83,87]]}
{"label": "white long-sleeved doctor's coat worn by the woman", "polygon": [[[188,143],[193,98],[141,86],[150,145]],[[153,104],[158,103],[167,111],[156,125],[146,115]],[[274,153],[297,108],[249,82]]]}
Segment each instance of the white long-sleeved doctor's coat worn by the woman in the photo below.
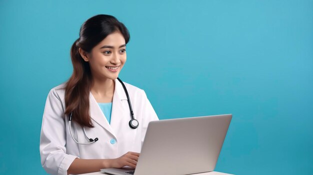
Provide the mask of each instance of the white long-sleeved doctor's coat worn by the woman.
{"label": "white long-sleeved doctor's coat worn by the woman", "polygon": [[[147,125],[158,120],[143,90],[124,83],[131,101],[134,118],[139,126],[128,125],[130,112],[127,98],[121,84],[115,80],[111,121],[107,122],[92,94],[89,95],[90,116],[94,128],[85,128],[89,138],[99,140],[89,145],[78,145],[69,134],[68,116],[64,116],[64,84],[50,90],[43,112],[40,133],[41,165],[48,174],[66,175],[75,158],[115,159],[128,151],[140,152]],[[73,137],[78,142],[88,142],[82,128],[71,122]],[[111,140],[116,142],[111,144]]]}

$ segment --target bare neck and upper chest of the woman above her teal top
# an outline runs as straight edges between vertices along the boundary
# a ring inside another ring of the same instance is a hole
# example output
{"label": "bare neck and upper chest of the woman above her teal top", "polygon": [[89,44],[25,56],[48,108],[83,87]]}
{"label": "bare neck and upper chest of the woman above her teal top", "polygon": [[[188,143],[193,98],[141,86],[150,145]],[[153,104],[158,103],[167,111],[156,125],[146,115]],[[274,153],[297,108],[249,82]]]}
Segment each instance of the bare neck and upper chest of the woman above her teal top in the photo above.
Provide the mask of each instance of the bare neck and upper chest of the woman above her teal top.
{"label": "bare neck and upper chest of the woman above her teal top", "polygon": [[115,88],[115,81],[111,79],[93,79],[91,94],[97,103],[112,102]]}

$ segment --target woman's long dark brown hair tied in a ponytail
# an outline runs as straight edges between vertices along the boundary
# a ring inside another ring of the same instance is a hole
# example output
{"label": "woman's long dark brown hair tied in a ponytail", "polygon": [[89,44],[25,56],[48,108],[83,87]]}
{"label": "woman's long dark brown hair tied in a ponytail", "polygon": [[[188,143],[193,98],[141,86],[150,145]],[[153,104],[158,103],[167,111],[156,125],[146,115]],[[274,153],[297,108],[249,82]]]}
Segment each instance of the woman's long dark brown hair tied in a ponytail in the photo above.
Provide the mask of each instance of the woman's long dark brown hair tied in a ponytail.
{"label": "woman's long dark brown hair tied in a ponytail", "polygon": [[71,46],[73,73],[65,85],[65,115],[72,113],[72,121],[80,126],[93,128],[89,115],[89,93],[93,82],[89,63],[82,59],[78,49],[90,52],[107,35],[116,31],[123,35],[127,44],[130,36],[123,23],[111,15],[95,15],[81,25],[79,38]]}

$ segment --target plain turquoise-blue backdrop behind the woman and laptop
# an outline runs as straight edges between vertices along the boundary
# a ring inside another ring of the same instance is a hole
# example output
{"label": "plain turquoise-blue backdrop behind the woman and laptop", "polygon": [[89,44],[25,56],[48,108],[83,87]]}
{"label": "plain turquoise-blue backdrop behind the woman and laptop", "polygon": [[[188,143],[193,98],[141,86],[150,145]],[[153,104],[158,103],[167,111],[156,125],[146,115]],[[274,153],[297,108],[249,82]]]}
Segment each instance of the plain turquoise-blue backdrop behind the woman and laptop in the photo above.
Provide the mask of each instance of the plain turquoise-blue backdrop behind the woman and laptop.
{"label": "plain turquoise-blue backdrop behind the woman and laptop", "polygon": [[215,171],[313,174],[312,0],[0,0],[1,175],[45,175],[45,99],[99,13],[128,27],[120,77],[160,119],[233,114]]}

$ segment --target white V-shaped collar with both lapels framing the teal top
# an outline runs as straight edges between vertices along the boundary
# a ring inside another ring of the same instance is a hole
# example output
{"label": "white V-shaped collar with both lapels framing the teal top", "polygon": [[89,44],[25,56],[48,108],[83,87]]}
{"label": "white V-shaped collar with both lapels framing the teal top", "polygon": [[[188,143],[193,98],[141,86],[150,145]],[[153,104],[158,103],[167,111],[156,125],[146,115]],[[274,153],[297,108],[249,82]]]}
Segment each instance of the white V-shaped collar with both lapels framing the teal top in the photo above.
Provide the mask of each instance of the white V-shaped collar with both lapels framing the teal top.
{"label": "white V-shaped collar with both lapels framing the teal top", "polygon": [[[115,79],[115,89],[113,94],[113,101],[112,101],[112,111],[111,111],[111,125],[116,125],[119,122],[116,122],[118,117],[124,116],[125,109],[122,106],[121,100],[127,100],[125,92],[123,90],[122,85],[119,83],[117,79]],[[94,97],[92,96],[91,92],[89,94],[89,109],[90,109],[90,117],[93,121],[98,123],[101,127],[107,130],[112,136],[116,139],[116,135],[114,130],[118,128],[118,126],[112,127],[106,120],[103,112],[101,111],[99,105],[95,101]]]}

